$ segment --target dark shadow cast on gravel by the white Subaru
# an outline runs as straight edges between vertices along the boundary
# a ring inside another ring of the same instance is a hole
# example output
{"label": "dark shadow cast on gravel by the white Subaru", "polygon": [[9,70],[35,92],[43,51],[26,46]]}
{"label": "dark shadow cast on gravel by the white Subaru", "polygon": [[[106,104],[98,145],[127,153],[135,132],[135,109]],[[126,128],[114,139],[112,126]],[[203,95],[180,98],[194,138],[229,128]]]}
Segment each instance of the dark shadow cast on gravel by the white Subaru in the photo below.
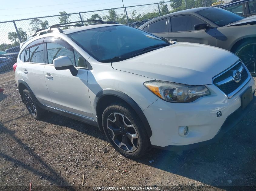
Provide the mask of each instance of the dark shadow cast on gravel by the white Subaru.
{"label": "dark shadow cast on gravel by the white Subaru", "polygon": [[[107,141],[97,127],[55,113],[49,112],[42,121]],[[134,161],[221,189],[237,190],[231,185],[256,185],[255,173],[251,173],[252,169],[256,169],[255,136],[255,126],[242,121],[212,145],[181,152],[153,148],[144,158]],[[232,184],[228,180],[232,180]]]}

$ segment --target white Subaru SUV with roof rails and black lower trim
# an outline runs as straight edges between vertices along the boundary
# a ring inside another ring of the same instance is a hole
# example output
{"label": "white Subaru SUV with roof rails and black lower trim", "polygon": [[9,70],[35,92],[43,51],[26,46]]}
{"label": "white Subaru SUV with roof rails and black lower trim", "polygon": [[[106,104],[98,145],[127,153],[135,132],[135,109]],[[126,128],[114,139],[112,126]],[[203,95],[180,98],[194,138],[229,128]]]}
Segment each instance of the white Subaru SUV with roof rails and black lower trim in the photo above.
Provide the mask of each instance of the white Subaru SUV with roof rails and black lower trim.
{"label": "white Subaru SUV with roof rails and black lower trim", "polygon": [[21,45],[15,80],[35,119],[52,111],[80,120],[139,158],[214,142],[254,104],[254,80],[233,53],[97,22],[57,24]]}

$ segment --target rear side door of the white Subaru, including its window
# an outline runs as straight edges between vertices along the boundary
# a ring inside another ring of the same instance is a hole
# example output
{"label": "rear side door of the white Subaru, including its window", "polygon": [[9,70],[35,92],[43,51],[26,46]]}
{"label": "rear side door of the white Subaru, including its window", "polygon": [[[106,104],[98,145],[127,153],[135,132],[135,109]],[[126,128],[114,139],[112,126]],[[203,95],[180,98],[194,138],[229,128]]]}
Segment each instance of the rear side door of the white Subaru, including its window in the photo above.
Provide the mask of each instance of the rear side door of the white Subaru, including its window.
{"label": "rear side door of the white Subaru, including its window", "polygon": [[25,49],[22,65],[22,78],[31,88],[38,101],[44,105],[51,103],[51,97],[45,84],[45,55],[43,38],[30,43]]}

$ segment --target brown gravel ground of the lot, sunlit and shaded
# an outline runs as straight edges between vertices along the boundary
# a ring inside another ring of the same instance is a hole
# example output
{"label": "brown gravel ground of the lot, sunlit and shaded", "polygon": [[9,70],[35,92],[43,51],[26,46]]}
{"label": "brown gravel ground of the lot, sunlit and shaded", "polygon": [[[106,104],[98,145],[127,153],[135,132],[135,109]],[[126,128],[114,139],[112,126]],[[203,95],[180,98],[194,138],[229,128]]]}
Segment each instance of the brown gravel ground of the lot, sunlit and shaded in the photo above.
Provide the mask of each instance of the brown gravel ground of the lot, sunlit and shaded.
{"label": "brown gravel ground of the lot, sunlit and shaded", "polygon": [[0,76],[0,88],[5,89],[0,93],[0,190],[29,190],[31,182],[32,190],[256,189],[256,104],[218,143],[178,153],[152,149],[140,160],[129,160],[93,126],[51,112],[33,119],[13,72]]}

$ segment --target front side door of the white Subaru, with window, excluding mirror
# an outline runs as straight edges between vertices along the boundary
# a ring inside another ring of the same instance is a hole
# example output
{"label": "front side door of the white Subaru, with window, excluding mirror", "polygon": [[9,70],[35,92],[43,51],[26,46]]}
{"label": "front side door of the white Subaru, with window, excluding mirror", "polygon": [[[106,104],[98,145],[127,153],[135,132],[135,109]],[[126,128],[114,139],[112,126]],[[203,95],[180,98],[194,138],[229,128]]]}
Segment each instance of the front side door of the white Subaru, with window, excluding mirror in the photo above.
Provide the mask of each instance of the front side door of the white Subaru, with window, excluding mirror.
{"label": "front side door of the white Subaru, with window, excluding mirror", "polygon": [[[52,98],[51,106],[81,116],[92,117],[88,91],[86,60],[73,47],[60,38],[45,38],[47,58],[44,75],[48,91]],[[72,76],[67,70],[56,70],[53,60],[68,56],[78,70]]]}

